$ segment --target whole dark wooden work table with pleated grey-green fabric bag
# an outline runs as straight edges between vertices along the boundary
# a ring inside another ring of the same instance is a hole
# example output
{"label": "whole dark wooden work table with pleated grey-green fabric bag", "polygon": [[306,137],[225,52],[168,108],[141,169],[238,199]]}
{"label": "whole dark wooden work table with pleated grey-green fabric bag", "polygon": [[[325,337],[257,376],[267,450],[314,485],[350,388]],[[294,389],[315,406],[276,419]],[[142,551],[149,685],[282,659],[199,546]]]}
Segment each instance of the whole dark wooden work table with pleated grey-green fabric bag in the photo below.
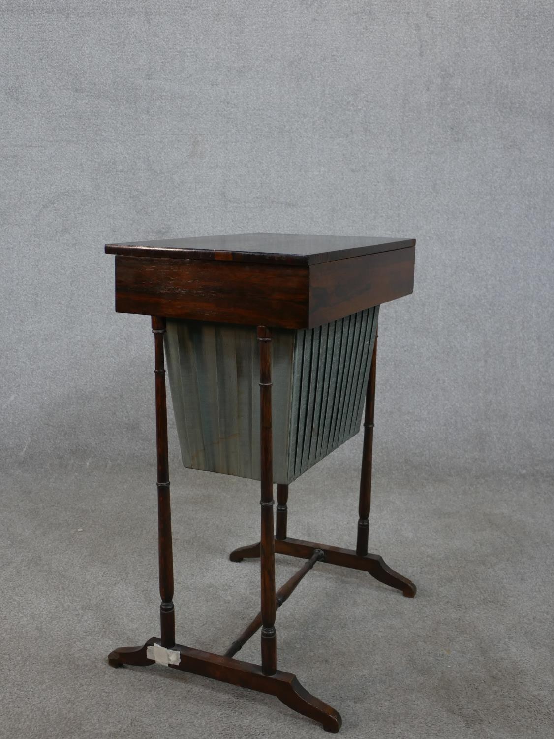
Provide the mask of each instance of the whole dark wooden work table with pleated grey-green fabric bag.
{"label": "whole dark wooden work table with pleated grey-green fabric bag", "polygon": [[[378,310],[412,292],[415,240],[238,234],[108,244],[105,251],[116,255],[117,312],[152,322],[162,598],[160,636],[114,650],[109,664],[157,662],[269,693],[337,732],[339,713],[277,670],[275,614],[318,561],[415,596],[409,579],[367,551]],[[260,480],[260,539],[229,555],[232,562],[260,558],[260,613],[223,655],[175,638],[166,361],[184,465]],[[289,484],[355,435],[362,415],[356,549],[291,539]],[[305,560],[278,590],[275,553]],[[236,659],[259,629],[260,664]]]}

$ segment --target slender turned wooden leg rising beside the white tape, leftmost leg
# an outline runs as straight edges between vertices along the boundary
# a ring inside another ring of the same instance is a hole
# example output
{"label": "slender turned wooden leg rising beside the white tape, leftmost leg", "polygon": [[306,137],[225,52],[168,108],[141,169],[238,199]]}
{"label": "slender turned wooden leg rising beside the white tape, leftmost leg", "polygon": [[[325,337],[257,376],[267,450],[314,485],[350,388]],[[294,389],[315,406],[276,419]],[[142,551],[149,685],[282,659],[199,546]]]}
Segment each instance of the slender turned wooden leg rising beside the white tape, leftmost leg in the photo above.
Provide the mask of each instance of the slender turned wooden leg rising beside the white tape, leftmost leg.
{"label": "slender turned wooden leg rising beside the white tape, leftmost leg", "polygon": [[162,647],[175,644],[175,607],[173,605],[173,545],[169,460],[167,455],[167,404],[165,399],[164,334],[165,319],[152,316],[156,375],[156,450],[158,460],[158,556],[160,628]]}

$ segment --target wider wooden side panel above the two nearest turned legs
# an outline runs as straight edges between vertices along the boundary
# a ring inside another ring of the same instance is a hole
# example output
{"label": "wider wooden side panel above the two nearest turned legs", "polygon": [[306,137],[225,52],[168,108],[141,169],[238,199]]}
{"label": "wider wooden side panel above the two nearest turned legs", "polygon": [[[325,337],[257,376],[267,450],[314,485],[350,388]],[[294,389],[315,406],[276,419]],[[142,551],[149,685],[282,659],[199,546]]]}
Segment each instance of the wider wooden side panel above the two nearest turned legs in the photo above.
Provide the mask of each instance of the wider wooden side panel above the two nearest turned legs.
{"label": "wider wooden side panel above the two nearest turned legs", "polygon": [[118,313],[284,328],[308,324],[308,267],[116,256]]}

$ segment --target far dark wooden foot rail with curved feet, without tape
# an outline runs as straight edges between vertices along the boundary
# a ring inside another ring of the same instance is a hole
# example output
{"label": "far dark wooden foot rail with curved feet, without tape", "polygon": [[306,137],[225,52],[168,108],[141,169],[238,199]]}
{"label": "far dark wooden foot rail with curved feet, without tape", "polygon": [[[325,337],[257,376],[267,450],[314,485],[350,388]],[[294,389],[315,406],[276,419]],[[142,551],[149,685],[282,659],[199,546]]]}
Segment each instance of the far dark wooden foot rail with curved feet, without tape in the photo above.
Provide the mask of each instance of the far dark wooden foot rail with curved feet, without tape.
{"label": "far dark wooden foot rail with curved feet, without tape", "polygon": [[[407,577],[395,572],[387,565],[382,556],[378,554],[366,554],[359,556],[353,549],[342,549],[331,547],[328,544],[316,544],[316,542],[305,542],[302,539],[280,539],[275,540],[275,553],[288,554],[300,559],[310,559],[316,549],[321,549],[325,555],[325,562],[329,565],[339,565],[350,570],[361,570],[369,573],[384,585],[401,590],[406,598],[413,598],[417,588]],[[241,562],[243,559],[253,559],[260,556],[260,543],[239,547],[229,554],[232,562]]]}

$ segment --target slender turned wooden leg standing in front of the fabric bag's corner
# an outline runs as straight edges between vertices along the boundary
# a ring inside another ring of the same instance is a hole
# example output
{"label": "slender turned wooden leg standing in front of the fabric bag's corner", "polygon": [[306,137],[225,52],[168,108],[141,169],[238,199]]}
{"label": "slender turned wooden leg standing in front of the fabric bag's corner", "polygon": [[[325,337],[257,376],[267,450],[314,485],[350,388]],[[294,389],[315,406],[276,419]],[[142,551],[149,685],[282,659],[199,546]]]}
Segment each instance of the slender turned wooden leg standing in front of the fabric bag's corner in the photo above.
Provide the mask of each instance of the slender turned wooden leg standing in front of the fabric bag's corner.
{"label": "slender turned wooden leg standing in front of the fabric bag's corner", "polygon": [[262,672],[277,672],[275,633],[275,542],[273,523],[273,438],[271,431],[271,332],[257,327],[260,347],[260,574]]}

